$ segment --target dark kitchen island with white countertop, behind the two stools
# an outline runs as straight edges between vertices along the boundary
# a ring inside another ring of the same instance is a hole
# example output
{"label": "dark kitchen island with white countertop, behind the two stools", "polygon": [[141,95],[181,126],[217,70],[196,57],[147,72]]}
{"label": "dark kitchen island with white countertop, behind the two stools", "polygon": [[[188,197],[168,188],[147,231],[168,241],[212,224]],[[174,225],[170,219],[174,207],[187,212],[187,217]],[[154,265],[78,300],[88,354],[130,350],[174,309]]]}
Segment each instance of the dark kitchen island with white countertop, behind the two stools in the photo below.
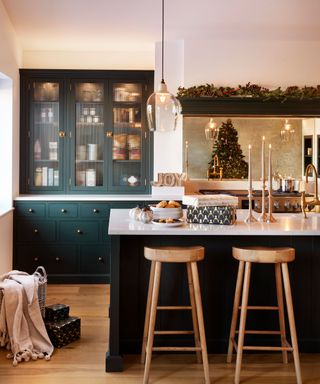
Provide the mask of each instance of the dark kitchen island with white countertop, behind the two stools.
{"label": "dark kitchen island with white countertop, behind the two stools", "polygon": [[[232,246],[290,246],[296,260],[289,265],[301,352],[320,352],[320,215],[275,214],[276,223],[244,223],[247,211],[237,211],[231,226],[184,224],[166,227],[143,224],[129,219],[127,209],[111,209],[108,234],[111,235],[110,337],[106,371],[121,371],[123,356],[140,353],[150,264],[143,256],[144,246],[202,245],[205,260],[199,263],[206,338],[209,353],[226,353],[231,320],[237,262]],[[249,294],[251,305],[274,305],[274,272],[271,265],[255,265]],[[188,304],[188,289],[182,265],[166,265],[159,294],[161,305]],[[185,313],[158,312],[158,329],[191,328]],[[171,311],[172,312],[172,311]],[[268,311],[273,312],[273,311]],[[278,328],[277,313],[250,313],[248,329]],[[258,328],[259,327],[259,328]],[[277,345],[278,337],[255,336],[250,343]],[[174,340],[156,338],[158,345],[191,345],[192,338],[182,335]]]}

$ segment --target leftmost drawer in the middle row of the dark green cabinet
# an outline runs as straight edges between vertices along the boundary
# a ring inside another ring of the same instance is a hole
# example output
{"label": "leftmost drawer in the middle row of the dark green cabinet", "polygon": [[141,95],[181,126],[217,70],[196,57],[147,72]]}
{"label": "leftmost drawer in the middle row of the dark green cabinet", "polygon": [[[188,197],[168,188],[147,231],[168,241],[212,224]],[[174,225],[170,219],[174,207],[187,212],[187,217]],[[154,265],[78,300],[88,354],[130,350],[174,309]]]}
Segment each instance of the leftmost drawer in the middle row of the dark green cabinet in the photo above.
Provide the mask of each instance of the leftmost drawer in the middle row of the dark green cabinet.
{"label": "leftmost drawer in the middle row of the dark green cabinet", "polygon": [[46,220],[19,220],[17,224],[18,241],[54,241],[56,223]]}

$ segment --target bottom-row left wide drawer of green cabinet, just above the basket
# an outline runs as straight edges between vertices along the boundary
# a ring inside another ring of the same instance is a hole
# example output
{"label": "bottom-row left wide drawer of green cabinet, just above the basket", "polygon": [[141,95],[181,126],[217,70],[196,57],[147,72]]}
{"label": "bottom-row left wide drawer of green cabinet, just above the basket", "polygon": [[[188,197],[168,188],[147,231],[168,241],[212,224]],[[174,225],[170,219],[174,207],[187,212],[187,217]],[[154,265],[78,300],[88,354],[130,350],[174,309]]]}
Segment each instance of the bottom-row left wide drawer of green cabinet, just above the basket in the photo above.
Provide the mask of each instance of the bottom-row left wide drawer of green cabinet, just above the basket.
{"label": "bottom-row left wide drawer of green cabinet, just above the basket", "polygon": [[77,273],[76,245],[19,245],[14,268],[33,273],[38,265],[43,265],[47,274]]}

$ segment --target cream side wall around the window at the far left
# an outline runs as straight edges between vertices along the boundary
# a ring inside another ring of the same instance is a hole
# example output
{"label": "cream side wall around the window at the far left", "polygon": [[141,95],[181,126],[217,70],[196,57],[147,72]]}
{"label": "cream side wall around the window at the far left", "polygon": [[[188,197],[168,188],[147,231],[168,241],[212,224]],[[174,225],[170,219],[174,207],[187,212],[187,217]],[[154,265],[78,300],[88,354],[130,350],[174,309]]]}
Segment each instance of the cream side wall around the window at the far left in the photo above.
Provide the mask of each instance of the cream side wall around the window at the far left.
{"label": "cream side wall around the window at the far left", "polygon": [[[8,167],[13,174],[12,197],[18,194],[19,186],[19,66],[21,63],[21,50],[5,8],[0,0],[0,72],[12,80],[13,109],[12,158],[1,164]],[[0,129],[7,127],[0,126]],[[0,180],[1,188],[2,180]],[[0,274],[12,268],[12,212],[0,216]]]}

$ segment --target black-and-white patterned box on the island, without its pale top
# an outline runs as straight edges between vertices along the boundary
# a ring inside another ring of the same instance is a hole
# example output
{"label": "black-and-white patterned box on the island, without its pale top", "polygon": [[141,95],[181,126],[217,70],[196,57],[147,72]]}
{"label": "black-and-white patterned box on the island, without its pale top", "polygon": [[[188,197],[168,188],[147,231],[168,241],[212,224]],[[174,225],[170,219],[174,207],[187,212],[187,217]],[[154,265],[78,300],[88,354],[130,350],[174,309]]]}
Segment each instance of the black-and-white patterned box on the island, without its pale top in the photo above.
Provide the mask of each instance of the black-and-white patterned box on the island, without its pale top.
{"label": "black-and-white patterned box on the island, without its pale top", "polygon": [[236,221],[234,206],[187,206],[187,222],[199,224],[231,225]]}

